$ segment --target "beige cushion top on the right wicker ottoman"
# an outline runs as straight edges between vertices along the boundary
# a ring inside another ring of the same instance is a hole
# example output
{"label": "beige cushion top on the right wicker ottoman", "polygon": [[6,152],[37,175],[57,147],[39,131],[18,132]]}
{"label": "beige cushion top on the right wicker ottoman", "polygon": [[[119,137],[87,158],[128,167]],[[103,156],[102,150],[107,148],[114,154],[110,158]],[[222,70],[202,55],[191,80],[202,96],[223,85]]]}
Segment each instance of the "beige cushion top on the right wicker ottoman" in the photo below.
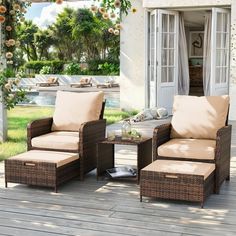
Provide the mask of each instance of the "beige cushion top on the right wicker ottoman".
{"label": "beige cushion top on the right wicker ottoman", "polygon": [[215,164],[191,161],[156,160],[143,168],[143,170],[170,173],[173,175],[200,175],[204,176],[204,179],[206,179],[215,170]]}

